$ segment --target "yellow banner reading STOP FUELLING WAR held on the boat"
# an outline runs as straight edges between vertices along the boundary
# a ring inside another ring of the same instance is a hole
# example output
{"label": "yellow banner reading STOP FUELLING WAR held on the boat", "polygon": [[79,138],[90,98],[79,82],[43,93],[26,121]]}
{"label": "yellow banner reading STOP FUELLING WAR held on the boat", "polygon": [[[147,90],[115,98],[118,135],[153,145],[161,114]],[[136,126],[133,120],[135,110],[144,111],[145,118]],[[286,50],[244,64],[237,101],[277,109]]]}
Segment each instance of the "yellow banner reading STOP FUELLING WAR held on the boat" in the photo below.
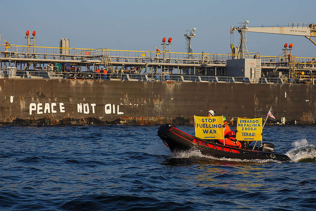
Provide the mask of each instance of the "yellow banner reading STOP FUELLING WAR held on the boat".
{"label": "yellow banner reading STOP FUELLING WAR held on the boat", "polygon": [[200,139],[224,139],[223,116],[196,116],[195,136]]}

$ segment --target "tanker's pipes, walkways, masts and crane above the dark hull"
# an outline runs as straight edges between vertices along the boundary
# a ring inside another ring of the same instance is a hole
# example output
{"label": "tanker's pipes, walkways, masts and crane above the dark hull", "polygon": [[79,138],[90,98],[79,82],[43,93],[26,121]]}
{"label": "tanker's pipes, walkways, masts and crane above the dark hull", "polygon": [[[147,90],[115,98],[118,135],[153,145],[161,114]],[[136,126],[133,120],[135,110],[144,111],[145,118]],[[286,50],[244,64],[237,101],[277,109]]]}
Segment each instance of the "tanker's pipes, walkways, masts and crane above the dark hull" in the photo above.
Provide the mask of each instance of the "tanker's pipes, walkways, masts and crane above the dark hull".
{"label": "tanker's pipes, walkways, masts and crane above the dark hull", "polygon": [[[246,33],[300,35],[315,44],[310,38],[316,36],[315,24],[292,23],[282,27],[248,27],[247,24],[248,21],[245,21],[240,23],[239,27],[231,27],[231,33],[240,33],[240,40],[237,47],[232,46],[232,53],[229,54],[193,53],[190,40],[195,36],[195,28],[185,34],[187,53],[170,52],[169,49],[158,55],[155,51],[70,48],[68,39],[61,40],[60,48],[37,47],[34,31],[33,37],[30,37],[29,33],[26,36],[27,46],[1,44],[0,68],[54,71],[57,63],[68,62],[80,71],[95,71],[97,66],[101,66],[110,68],[112,72],[123,70],[144,74],[227,75],[251,78],[252,82],[258,82],[260,77],[288,79],[313,75],[316,70],[315,58],[296,57],[291,54],[292,52],[288,55],[286,51],[280,56],[249,53],[246,47]],[[30,43],[30,39],[33,39],[33,44]],[[300,74],[303,72],[304,75]]]}

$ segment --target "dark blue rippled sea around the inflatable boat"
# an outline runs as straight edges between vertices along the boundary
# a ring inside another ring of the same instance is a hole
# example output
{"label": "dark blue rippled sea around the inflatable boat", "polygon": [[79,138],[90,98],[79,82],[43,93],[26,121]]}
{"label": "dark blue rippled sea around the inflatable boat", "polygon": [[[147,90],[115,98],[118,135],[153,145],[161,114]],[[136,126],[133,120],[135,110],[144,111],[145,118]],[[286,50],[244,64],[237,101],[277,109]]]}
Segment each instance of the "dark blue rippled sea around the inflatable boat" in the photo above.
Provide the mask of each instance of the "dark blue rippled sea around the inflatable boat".
{"label": "dark blue rippled sea around the inflatable boat", "polygon": [[315,210],[316,125],[265,126],[284,163],[172,154],[158,127],[0,127],[0,209]]}

